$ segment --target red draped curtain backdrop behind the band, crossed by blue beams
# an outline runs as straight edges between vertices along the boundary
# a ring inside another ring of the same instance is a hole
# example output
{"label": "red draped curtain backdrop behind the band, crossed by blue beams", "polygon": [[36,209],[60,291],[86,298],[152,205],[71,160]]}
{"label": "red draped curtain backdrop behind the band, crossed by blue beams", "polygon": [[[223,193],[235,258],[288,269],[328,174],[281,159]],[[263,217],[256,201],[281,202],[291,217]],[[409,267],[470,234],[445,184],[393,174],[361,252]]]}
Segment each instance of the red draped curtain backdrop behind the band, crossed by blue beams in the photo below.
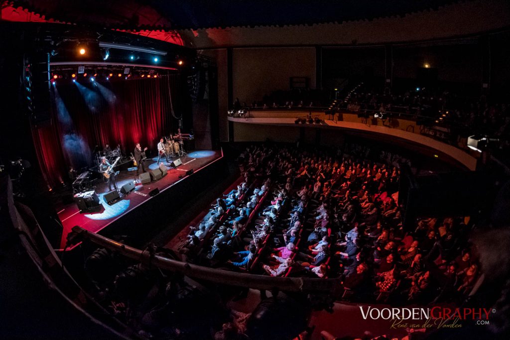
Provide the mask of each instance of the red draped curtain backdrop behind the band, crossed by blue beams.
{"label": "red draped curtain backdrop behind the band, crossed by blue beams", "polygon": [[34,125],[32,134],[41,171],[52,187],[67,178],[69,166],[93,166],[94,152],[105,144],[112,149],[120,145],[129,156],[140,142],[155,154],[161,136],[176,132],[176,118],[191,112],[179,75],[112,82],[82,79],[52,86],[52,97],[50,125]]}

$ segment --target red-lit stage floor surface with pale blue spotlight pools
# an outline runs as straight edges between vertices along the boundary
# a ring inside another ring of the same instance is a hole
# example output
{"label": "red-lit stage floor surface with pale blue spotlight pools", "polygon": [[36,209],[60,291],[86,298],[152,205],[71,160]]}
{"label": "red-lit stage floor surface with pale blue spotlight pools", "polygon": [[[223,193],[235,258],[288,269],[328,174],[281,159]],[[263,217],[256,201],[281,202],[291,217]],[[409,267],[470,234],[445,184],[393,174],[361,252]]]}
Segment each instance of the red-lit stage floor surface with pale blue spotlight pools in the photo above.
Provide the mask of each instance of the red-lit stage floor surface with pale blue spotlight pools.
{"label": "red-lit stage floor surface with pale blue spotlight pools", "polygon": [[[151,181],[144,185],[137,184],[131,193],[124,195],[112,205],[108,205],[104,200],[104,195],[108,192],[108,184],[103,180],[99,180],[95,188],[95,191],[99,196],[99,203],[103,204],[103,208],[99,212],[80,214],[80,210],[75,203],[57,207],[57,212],[63,225],[62,239],[60,242],[61,250],[65,247],[67,234],[75,225],[79,225],[91,232],[98,232],[99,230],[107,227],[111,222],[120,218],[126,212],[135,209],[140,204],[143,204],[150,198],[148,194],[151,190],[158,188],[160,191],[163,191],[171,187],[175,184],[175,182],[181,180],[182,178],[179,176],[182,176],[183,179],[186,178],[186,171],[193,169],[193,171],[196,172],[201,168],[207,167],[214,161],[219,160],[221,157],[221,150],[192,151],[181,157],[183,164],[179,168],[168,169],[167,175],[157,181]],[[145,161],[145,169],[156,169],[158,167],[157,160],[157,157],[147,159]],[[116,177],[117,187],[120,189],[127,182],[135,180],[135,175],[135,171],[121,171]]]}

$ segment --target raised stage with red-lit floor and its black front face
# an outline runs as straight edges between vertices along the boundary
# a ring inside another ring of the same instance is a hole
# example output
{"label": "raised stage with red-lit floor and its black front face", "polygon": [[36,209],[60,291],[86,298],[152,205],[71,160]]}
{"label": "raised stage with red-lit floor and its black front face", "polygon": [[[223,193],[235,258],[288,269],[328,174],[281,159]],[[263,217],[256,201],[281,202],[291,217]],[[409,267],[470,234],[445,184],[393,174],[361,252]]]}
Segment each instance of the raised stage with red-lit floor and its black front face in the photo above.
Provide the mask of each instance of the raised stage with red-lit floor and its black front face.
{"label": "raised stage with red-lit floor and its black front face", "polygon": [[[147,159],[145,169],[156,169],[158,158]],[[97,213],[81,214],[75,203],[57,207],[58,216],[63,225],[60,250],[64,250],[67,234],[75,225],[79,225],[91,232],[110,235],[116,232],[123,232],[122,226],[124,219],[129,219],[131,227],[131,237],[136,237],[137,233],[143,232],[138,228],[135,230],[133,225],[142,224],[145,230],[149,230],[151,224],[157,223],[157,215],[154,209],[163,210],[165,208],[174,209],[179,206],[179,202],[191,199],[193,195],[199,193],[200,188],[204,188],[210,181],[210,176],[220,174],[225,171],[223,163],[223,154],[221,150],[195,150],[181,157],[182,165],[178,168],[169,168],[165,177],[159,180],[152,180],[147,184],[140,184],[138,178],[137,185],[133,191],[127,195],[122,195],[118,201],[109,205],[104,200],[104,195],[108,192],[108,184],[99,180],[95,191],[99,196],[99,203],[103,208]],[[186,172],[193,169],[193,174],[187,176]],[[120,189],[129,181],[134,181],[136,171],[121,171],[116,176],[117,187]],[[149,196],[149,192],[159,189],[160,193],[154,197]],[[152,201],[152,202],[150,202]],[[149,203],[150,202],[150,203]],[[150,216],[149,216],[150,215]],[[147,228],[148,224],[148,228]],[[109,232],[109,228],[112,230]],[[124,233],[123,233],[124,234]],[[69,250],[69,249],[65,249]]]}

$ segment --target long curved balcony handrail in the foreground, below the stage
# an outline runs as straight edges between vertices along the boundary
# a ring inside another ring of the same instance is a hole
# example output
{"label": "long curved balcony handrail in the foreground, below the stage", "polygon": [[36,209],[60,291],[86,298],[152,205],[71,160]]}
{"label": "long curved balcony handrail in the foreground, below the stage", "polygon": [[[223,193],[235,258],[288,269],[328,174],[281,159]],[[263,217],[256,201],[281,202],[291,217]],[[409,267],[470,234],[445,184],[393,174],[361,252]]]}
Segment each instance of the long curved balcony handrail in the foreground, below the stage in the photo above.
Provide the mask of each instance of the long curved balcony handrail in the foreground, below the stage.
{"label": "long curved balcony handrail in the foreground, below the stage", "polygon": [[270,277],[264,275],[243,274],[226,270],[218,270],[192,265],[156,255],[147,250],[140,250],[113,241],[99,234],[85,230],[80,226],[72,228],[73,238],[79,241],[89,240],[99,246],[106,247],[125,257],[140,261],[146,266],[183,273],[194,279],[207,280],[215,283],[250,287],[259,290],[279,289],[287,292],[317,292],[338,295],[342,290],[340,279],[320,279],[302,277]]}

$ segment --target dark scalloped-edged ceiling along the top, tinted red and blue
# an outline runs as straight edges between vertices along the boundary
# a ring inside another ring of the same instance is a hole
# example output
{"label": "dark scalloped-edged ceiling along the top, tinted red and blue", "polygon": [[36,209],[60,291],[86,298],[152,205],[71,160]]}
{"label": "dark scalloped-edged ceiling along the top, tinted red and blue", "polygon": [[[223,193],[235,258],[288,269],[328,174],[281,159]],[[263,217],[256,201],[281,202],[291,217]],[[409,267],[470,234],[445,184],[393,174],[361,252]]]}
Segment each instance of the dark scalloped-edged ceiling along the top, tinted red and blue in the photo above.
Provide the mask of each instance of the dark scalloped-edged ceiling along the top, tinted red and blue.
{"label": "dark scalloped-edged ceiling along the top, tinted red and blue", "polygon": [[312,24],[436,10],[447,0],[25,0],[14,1],[60,21],[124,29],[199,29]]}

